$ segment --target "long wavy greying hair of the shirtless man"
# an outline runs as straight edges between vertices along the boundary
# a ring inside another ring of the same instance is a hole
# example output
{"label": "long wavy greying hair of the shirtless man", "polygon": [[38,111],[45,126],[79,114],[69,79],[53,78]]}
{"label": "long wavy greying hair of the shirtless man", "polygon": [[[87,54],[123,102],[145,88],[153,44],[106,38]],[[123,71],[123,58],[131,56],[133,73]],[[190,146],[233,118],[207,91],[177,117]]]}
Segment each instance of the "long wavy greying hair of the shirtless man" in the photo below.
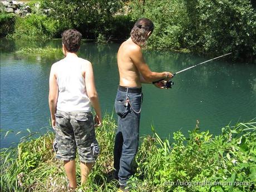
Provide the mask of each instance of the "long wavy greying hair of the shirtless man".
{"label": "long wavy greying hair of the shirtless man", "polygon": [[147,33],[154,31],[154,23],[148,18],[140,18],[131,29],[131,40],[139,46],[144,46]]}

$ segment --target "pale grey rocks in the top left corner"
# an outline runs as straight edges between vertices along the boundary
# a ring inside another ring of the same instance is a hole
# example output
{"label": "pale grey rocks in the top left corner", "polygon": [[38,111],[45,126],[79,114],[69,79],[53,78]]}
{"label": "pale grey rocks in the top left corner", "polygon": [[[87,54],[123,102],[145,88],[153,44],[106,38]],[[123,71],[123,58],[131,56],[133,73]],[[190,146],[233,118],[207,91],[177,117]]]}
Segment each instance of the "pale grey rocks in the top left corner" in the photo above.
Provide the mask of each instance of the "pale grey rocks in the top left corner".
{"label": "pale grey rocks in the top left corner", "polygon": [[26,3],[18,1],[1,1],[1,7],[4,12],[14,13],[24,17],[31,14],[31,8]]}

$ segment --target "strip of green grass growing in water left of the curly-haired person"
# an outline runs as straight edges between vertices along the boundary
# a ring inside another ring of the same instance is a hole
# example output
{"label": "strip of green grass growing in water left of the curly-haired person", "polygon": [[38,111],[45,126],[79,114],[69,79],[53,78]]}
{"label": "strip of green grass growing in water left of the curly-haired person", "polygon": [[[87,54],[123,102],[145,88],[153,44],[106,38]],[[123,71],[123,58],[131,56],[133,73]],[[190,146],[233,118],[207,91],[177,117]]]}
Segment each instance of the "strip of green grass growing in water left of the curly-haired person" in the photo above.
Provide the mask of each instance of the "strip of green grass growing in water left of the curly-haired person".
{"label": "strip of green grass growing in water left of the curly-haired person", "polygon": [[52,48],[52,47],[23,47],[16,51],[18,54],[46,54],[46,55],[63,55],[62,50],[60,48]]}

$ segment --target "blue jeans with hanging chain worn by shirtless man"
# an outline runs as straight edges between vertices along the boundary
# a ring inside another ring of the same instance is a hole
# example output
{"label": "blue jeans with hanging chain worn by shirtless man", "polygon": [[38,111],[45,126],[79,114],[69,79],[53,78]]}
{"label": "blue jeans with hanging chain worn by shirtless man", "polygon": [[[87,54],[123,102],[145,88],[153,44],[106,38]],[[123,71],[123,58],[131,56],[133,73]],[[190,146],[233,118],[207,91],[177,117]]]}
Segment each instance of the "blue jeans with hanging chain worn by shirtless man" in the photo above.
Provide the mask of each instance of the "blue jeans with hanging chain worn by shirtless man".
{"label": "blue jeans with hanging chain worn by shirtless man", "polygon": [[132,163],[139,146],[140,110],[142,104],[141,88],[119,86],[115,100],[118,117],[114,146],[115,175],[120,186],[126,186],[134,174]]}

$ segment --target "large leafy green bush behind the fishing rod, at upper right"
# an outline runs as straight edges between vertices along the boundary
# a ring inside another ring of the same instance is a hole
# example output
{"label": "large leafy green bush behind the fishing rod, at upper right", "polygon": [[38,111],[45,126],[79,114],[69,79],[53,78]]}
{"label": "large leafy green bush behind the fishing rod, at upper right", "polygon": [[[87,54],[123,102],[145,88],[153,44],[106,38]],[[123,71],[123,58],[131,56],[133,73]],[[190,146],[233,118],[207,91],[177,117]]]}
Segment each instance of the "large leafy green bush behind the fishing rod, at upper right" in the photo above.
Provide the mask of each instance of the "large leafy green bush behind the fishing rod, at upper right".
{"label": "large leafy green bush behind the fishing rod, at upper right", "polygon": [[256,13],[249,0],[132,1],[130,7],[134,21],[147,17],[155,24],[150,48],[256,57]]}

